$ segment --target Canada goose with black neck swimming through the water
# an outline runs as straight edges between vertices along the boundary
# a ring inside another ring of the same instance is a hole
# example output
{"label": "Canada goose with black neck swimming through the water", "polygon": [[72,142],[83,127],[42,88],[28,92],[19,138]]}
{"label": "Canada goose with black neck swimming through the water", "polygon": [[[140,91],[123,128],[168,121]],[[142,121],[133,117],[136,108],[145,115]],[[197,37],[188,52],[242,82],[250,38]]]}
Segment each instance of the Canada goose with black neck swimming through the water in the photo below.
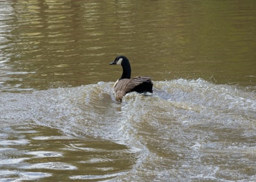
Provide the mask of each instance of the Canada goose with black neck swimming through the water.
{"label": "Canada goose with black neck swimming through the water", "polygon": [[122,102],[122,97],[132,91],[138,93],[150,92],[153,93],[153,83],[150,77],[134,77],[131,79],[131,65],[125,56],[117,56],[116,59],[109,64],[121,64],[123,67],[123,74],[115,83],[115,98]]}

